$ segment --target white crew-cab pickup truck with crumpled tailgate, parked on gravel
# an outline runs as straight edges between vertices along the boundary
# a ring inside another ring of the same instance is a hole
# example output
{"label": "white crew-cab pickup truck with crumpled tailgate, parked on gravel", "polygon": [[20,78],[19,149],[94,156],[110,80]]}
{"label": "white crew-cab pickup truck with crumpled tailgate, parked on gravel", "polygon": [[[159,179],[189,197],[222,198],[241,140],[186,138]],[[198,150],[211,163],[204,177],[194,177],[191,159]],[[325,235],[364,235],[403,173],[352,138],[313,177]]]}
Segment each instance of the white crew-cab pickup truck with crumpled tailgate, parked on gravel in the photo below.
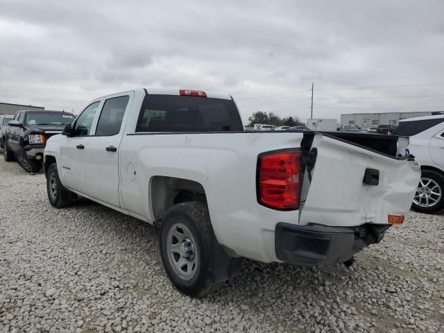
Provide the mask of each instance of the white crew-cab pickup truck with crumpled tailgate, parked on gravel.
{"label": "white crew-cab pickup truck with crumpled tailgate, parked on gravel", "polygon": [[231,96],[135,89],[95,99],[44,151],[54,207],[77,195],[154,225],[182,292],[202,296],[239,258],[345,262],[402,223],[420,178],[408,139],[247,132]]}

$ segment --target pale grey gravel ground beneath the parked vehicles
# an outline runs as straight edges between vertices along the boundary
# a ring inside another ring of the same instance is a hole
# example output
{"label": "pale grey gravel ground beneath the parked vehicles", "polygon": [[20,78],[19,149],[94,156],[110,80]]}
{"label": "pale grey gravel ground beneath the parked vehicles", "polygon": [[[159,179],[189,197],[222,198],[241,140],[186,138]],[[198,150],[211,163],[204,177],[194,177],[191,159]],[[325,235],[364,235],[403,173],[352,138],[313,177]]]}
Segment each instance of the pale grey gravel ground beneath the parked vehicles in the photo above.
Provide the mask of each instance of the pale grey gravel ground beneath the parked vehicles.
{"label": "pale grey gravel ground beneath the parked vehicles", "polygon": [[444,216],[411,212],[343,265],[245,262],[205,299],[164,273],[152,228],[0,159],[0,332],[444,332]]}

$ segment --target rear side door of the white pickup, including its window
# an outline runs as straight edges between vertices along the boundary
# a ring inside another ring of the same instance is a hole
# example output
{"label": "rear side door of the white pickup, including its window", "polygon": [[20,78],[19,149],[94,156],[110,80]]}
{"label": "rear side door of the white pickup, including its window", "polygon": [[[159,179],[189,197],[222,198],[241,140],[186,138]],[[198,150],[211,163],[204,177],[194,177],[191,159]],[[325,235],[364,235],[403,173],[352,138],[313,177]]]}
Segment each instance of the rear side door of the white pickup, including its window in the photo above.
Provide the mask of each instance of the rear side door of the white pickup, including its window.
{"label": "rear side door of the white pickup, including its window", "polygon": [[120,207],[119,145],[122,124],[133,101],[133,93],[114,95],[105,100],[94,135],[85,148],[85,194],[103,203]]}

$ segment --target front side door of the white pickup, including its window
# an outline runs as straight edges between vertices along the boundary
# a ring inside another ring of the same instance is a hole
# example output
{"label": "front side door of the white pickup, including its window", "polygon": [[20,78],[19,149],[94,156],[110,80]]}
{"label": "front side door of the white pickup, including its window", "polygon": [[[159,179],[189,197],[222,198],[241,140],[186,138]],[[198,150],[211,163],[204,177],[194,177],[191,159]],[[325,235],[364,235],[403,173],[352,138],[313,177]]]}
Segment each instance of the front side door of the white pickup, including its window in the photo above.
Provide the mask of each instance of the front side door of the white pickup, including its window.
{"label": "front side door of the white pickup, including its window", "polygon": [[85,108],[73,123],[73,135],[64,137],[60,144],[60,171],[63,185],[75,191],[85,191],[85,148],[88,135],[99,109],[100,101]]}

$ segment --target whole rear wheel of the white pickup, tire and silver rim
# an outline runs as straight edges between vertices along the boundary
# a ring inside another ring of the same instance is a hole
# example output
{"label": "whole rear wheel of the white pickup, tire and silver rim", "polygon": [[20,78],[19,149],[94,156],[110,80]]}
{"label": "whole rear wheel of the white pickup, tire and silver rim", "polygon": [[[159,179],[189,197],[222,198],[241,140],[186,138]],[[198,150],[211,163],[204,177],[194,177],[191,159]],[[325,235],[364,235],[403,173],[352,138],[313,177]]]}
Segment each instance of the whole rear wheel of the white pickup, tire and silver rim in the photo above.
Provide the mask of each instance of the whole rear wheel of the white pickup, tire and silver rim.
{"label": "whole rear wheel of the white pickup, tire and silver rim", "polygon": [[189,296],[204,296],[217,287],[212,282],[214,233],[208,209],[190,201],[171,207],[160,230],[160,254],[174,286]]}

